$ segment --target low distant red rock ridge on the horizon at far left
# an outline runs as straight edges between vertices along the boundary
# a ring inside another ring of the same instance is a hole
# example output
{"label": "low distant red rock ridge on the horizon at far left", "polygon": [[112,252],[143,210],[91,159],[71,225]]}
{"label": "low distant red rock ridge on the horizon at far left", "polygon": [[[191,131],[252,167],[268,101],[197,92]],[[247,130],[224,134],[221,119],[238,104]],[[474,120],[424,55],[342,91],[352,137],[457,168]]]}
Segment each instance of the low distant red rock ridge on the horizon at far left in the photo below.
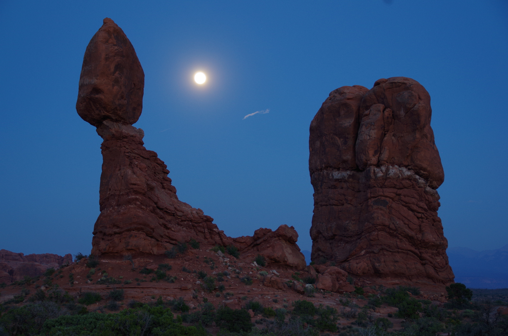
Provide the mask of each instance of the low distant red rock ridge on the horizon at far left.
{"label": "low distant red rock ridge on the horizon at far left", "polygon": [[58,268],[64,263],[72,263],[72,255],[66,254],[28,254],[0,250],[0,283],[22,280],[25,276],[37,277],[50,267]]}

